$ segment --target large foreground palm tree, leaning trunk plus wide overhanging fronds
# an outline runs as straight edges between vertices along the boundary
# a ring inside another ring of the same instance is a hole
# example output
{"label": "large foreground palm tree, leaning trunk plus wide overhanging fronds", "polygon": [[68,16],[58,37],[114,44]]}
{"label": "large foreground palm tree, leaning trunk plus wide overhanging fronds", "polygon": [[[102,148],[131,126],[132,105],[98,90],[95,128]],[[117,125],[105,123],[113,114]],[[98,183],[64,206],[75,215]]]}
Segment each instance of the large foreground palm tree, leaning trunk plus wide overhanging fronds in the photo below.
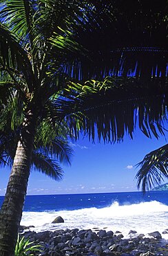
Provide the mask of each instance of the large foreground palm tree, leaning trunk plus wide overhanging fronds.
{"label": "large foreground palm tree, leaning trunk plus wide overhanging fronds", "polygon": [[[46,134],[55,138],[64,124],[70,138],[77,139],[83,131],[91,140],[98,134],[105,142],[123,140],[125,134],[133,138],[137,123],[147,136],[162,134],[167,12],[160,4],[157,15],[155,5],[138,1],[133,23],[132,8],[121,1],[1,3],[0,74],[3,88],[15,96],[10,127],[19,127],[19,139],[0,212],[0,251],[13,256],[39,129],[43,141]],[[151,10],[150,22],[139,22],[142,8],[144,17]],[[160,26],[163,44],[157,34]],[[134,77],[127,78],[132,73]],[[2,124],[9,121],[5,113],[3,103]]]}

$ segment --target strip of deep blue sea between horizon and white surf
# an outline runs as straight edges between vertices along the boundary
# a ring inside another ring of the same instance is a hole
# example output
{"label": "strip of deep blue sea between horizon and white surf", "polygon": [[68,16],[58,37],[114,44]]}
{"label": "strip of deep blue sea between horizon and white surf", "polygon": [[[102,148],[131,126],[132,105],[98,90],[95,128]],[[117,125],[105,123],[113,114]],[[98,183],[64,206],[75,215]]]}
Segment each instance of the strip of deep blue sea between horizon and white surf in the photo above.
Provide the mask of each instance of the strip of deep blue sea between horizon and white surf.
{"label": "strip of deep blue sea between horizon and white surf", "polygon": [[[3,202],[0,196],[0,205]],[[118,202],[119,205],[158,201],[168,205],[168,191],[165,192],[119,192],[97,194],[52,194],[26,196],[24,211],[43,212],[48,210],[78,210],[83,208],[105,208]]]}

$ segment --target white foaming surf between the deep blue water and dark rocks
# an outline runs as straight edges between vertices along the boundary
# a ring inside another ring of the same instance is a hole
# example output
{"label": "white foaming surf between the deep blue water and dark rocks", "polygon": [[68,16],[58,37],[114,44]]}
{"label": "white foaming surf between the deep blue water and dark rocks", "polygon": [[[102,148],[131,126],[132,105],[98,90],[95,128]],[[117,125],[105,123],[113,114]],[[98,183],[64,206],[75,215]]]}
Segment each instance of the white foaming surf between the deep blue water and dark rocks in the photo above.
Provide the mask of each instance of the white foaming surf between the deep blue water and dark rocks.
{"label": "white foaming surf between the deep blue water and dark rocks", "polygon": [[[55,217],[61,216],[65,223],[52,224]],[[65,228],[99,228],[105,230],[119,230],[127,237],[129,230],[136,230],[138,234],[159,231],[168,228],[168,205],[158,201],[119,205],[112,203],[107,208],[85,208],[81,210],[62,210],[58,212],[23,212],[21,225],[35,226],[36,232]],[[168,235],[162,235],[168,239]]]}

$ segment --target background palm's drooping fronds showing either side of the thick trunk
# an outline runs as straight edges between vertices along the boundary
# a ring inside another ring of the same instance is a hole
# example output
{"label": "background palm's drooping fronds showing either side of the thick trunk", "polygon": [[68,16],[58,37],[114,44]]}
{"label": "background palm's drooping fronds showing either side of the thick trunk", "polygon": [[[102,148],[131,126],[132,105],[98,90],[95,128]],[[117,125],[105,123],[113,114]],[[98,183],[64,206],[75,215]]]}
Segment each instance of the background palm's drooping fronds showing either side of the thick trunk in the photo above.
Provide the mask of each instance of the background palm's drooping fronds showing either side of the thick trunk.
{"label": "background palm's drooping fronds showing either side of the thick trunk", "polygon": [[[16,152],[18,136],[11,131],[10,134],[1,133],[0,136],[0,165],[2,167],[12,167],[14,154]],[[36,144],[36,143],[35,143]],[[63,176],[61,163],[70,165],[72,148],[68,145],[67,140],[57,136],[45,147],[34,145],[32,152],[31,170],[35,170],[49,176],[50,178],[60,181]]]}

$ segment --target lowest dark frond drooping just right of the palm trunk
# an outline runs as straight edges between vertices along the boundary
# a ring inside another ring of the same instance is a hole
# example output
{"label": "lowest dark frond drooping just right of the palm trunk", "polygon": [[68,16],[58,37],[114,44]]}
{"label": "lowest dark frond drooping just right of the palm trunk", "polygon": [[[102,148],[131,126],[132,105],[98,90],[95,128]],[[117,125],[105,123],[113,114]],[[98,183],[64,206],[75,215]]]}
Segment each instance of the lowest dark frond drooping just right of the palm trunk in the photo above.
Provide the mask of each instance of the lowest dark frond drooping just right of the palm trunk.
{"label": "lowest dark frond drooping just right of the palm trunk", "polygon": [[58,162],[36,151],[32,154],[32,168],[56,181],[60,181],[63,176],[63,170]]}

